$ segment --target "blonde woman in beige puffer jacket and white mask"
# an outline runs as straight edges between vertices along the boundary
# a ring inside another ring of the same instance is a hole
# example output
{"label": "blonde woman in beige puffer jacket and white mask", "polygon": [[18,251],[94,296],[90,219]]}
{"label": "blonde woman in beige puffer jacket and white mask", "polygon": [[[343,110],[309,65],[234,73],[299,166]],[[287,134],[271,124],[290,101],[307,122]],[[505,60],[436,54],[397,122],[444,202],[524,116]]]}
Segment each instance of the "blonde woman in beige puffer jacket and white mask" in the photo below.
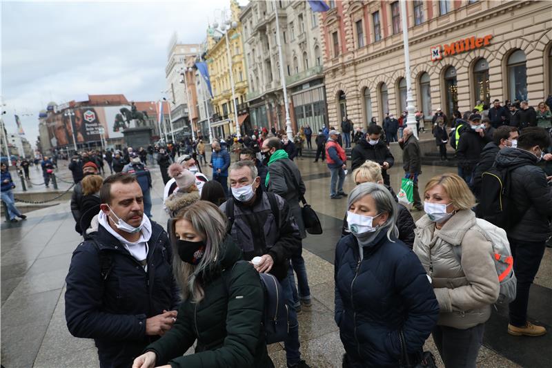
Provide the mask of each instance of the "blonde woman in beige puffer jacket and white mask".
{"label": "blonde woman in beige puffer jacket and white mask", "polygon": [[475,367],[484,323],[500,292],[493,246],[475,222],[475,197],[461,177],[433,177],[424,198],[427,214],[416,222],[413,250],[439,302],[433,339],[445,367]]}

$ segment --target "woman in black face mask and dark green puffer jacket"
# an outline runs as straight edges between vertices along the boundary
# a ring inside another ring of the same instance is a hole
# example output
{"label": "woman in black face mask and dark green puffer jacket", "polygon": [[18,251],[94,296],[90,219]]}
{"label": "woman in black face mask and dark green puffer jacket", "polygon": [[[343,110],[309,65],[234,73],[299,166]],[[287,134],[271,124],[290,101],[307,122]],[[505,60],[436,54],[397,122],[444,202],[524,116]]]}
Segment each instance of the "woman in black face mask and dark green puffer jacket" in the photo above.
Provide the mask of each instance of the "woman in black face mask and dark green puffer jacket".
{"label": "woman in black face mask and dark green puffer jacket", "polygon": [[[183,302],[172,329],[146,347],[132,368],[274,367],[261,322],[259,274],[232,238],[226,216],[210,202],[187,206],[172,219],[172,270]],[[183,356],[197,340],[195,354]]]}

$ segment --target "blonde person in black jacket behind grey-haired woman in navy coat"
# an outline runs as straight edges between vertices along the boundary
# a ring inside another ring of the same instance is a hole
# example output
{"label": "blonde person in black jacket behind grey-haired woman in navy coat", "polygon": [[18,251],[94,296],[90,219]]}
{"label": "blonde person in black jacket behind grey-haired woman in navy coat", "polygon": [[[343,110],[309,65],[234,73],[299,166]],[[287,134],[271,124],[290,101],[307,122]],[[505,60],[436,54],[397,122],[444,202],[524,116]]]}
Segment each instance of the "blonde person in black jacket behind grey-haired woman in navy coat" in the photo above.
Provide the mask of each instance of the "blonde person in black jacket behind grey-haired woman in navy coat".
{"label": "blonde person in black jacket behind grey-haired woman in navy coat", "polygon": [[[366,182],[384,184],[382,166],[380,166],[380,164],[378,164],[377,162],[366,160],[364,164],[353,171],[353,180],[355,180],[355,184],[357,185]],[[414,219],[412,218],[410,211],[408,211],[408,209],[403,204],[399,203],[399,200],[397,199],[397,195],[395,195],[393,188],[385,184],[384,186],[387,188],[389,193],[393,195],[393,198],[395,198],[395,203],[397,204],[396,225],[397,229],[399,230],[399,240],[402,240],[404,244],[412,248],[414,244]],[[348,233],[349,231],[347,226],[347,218],[345,217],[343,219],[342,236],[348,235]]]}

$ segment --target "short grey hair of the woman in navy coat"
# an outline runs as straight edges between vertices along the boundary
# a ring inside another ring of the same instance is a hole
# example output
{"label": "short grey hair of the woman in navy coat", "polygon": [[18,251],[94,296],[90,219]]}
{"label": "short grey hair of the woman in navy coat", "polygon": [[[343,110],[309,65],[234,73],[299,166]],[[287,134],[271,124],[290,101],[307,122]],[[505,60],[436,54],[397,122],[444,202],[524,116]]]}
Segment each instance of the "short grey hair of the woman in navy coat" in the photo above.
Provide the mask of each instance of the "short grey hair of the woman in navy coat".
{"label": "short grey hair of the woman in navy coat", "polygon": [[382,184],[366,182],[355,186],[353,191],[351,191],[347,201],[347,210],[351,208],[352,204],[360,200],[365,195],[372,196],[375,201],[377,213],[388,214],[386,222],[384,222],[381,227],[389,228],[387,231],[387,238],[389,241],[393,242],[393,240],[391,240],[391,235],[395,238],[399,237],[399,230],[396,226],[397,203],[395,202],[395,198],[393,198],[393,195],[391,195],[387,188]]}

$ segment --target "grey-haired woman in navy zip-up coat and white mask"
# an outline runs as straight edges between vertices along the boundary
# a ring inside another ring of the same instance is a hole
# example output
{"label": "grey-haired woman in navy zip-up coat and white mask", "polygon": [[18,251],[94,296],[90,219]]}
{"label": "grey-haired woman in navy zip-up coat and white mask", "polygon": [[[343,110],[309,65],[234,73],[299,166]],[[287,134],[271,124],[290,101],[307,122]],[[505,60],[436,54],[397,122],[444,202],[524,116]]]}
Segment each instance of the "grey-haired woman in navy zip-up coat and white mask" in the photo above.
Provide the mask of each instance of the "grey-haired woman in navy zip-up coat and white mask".
{"label": "grey-haired woman in navy zip-up coat and white mask", "polygon": [[351,234],[335,249],[335,322],[343,367],[400,367],[417,362],[439,305],[417,256],[397,240],[397,205],[381,184],[364,183],[348,197]]}

